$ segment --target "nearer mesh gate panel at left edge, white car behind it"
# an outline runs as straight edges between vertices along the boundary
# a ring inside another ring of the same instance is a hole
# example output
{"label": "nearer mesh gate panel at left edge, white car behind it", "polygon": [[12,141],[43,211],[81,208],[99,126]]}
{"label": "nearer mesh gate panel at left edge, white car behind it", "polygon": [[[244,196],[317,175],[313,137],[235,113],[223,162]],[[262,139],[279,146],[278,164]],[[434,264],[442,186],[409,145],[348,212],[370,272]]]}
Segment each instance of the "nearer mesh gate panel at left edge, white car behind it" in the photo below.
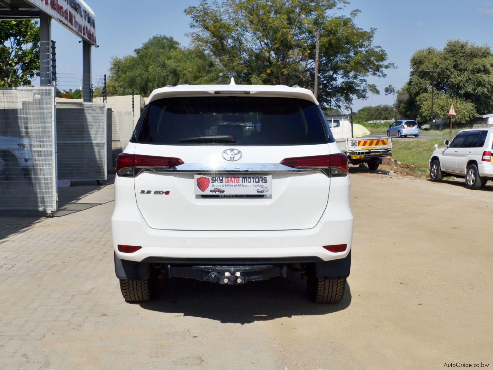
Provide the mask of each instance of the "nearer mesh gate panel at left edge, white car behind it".
{"label": "nearer mesh gate panel at left edge, white car behind it", "polygon": [[53,87],[0,88],[0,209],[57,205]]}

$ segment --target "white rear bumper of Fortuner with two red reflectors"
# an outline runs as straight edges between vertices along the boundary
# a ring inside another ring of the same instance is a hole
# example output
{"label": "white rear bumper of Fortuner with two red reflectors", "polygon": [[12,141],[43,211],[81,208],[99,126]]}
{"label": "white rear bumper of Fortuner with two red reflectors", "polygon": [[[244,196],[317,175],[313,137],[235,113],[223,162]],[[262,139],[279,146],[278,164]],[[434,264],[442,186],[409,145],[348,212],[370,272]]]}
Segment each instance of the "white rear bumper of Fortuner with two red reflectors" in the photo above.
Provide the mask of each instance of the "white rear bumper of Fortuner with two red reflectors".
{"label": "white rear bumper of Fortuner with two red reflectors", "polygon": [[[179,212],[179,210],[176,210]],[[293,215],[296,217],[296,215]],[[115,208],[111,217],[113,248],[119,259],[170,262],[174,259],[282,259],[302,262],[329,261],[348,256],[353,216],[349,177],[333,178],[328,205],[311,229],[273,231],[189,231],[153,229],[137,207],[133,179],[115,179]],[[132,254],[118,244],[141,246]],[[332,253],[325,245],[347,244],[345,252]],[[216,264],[216,263],[214,263]]]}

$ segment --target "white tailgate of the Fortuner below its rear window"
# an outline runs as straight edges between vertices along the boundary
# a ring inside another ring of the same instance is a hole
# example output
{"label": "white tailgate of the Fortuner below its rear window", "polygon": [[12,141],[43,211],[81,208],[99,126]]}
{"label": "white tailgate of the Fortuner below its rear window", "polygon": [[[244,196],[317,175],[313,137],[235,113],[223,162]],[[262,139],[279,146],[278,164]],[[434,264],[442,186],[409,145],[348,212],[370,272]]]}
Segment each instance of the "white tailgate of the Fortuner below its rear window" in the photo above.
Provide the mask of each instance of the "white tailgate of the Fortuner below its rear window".
{"label": "white tailgate of the Fortuner below its rear window", "polygon": [[[215,189],[222,187],[228,191],[228,185],[242,185],[243,176],[259,176],[259,173],[235,173],[228,169],[256,168],[259,164],[271,168],[284,158],[327,154],[328,145],[237,148],[243,154],[242,159],[230,162],[221,156],[225,147],[138,144],[135,154],[178,157],[184,161],[180,167],[185,170],[187,166],[208,168],[211,164],[217,168],[213,173],[141,172],[134,184],[145,222],[152,228],[171,230],[292,230],[317,224],[327,206],[330,187],[330,178],[321,172],[265,171],[260,176],[268,178],[272,188],[266,193],[253,191],[254,195],[247,197],[227,197]],[[207,187],[199,186],[203,191],[196,190],[197,175],[208,179]],[[212,177],[221,183],[212,184]],[[232,184],[225,185],[226,182]],[[263,184],[257,186],[262,187]]]}

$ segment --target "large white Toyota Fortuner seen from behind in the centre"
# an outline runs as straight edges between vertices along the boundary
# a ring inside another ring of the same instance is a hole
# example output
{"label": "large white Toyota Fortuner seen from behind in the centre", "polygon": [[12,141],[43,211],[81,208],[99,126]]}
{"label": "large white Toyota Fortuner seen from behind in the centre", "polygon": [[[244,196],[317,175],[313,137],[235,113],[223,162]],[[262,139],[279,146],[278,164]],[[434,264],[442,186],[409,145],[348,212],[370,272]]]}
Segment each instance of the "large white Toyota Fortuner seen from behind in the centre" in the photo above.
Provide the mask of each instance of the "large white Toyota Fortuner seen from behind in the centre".
{"label": "large white Toyota Fortuner seen from behind in the centre", "polygon": [[347,157],[309,90],[157,89],[118,156],[111,224],[127,301],[149,300],[164,276],[282,276],[335,303],[351,266]]}

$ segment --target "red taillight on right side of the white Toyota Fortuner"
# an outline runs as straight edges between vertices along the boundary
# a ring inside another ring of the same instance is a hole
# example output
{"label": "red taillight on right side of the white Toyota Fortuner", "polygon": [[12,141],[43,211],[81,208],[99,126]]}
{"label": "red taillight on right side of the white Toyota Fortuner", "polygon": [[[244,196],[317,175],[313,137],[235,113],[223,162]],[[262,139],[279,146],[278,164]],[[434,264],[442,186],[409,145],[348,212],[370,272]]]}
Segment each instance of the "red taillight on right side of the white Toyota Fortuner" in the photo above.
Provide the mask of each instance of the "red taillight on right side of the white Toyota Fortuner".
{"label": "red taillight on right side of the white Toyota Fortuner", "polygon": [[344,153],[285,158],[281,161],[281,164],[294,168],[327,169],[329,172],[324,172],[330,177],[346,176],[348,174],[348,157]]}

